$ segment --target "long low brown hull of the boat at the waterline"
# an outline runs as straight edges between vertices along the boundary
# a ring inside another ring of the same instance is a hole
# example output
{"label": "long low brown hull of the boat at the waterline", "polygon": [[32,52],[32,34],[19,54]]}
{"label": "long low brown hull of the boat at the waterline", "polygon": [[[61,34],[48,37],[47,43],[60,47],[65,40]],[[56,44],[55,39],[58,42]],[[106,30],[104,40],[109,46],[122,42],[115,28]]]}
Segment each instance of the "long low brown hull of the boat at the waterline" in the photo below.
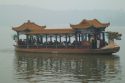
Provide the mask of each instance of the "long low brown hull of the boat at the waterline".
{"label": "long low brown hull of the boat at the waterline", "polygon": [[83,49],[83,48],[18,48],[20,52],[41,52],[41,53],[83,53],[83,54],[112,54],[118,52],[120,47],[107,49]]}

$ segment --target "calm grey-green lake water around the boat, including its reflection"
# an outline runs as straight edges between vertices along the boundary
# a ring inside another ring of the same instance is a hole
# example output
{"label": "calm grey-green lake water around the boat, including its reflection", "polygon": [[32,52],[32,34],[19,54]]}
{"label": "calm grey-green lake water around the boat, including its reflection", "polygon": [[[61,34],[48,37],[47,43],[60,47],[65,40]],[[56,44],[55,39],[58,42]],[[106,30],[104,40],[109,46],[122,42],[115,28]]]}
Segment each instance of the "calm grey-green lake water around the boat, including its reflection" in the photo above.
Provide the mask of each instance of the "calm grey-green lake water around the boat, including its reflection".
{"label": "calm grey-green lake water around the boat, including its reflection", "polygon": [[[110,29],[109,29],[110,30]],[[0,83],[124,83],[124,27],[113,55],[43,54],[15,52],[9,28],[1,30]]]}

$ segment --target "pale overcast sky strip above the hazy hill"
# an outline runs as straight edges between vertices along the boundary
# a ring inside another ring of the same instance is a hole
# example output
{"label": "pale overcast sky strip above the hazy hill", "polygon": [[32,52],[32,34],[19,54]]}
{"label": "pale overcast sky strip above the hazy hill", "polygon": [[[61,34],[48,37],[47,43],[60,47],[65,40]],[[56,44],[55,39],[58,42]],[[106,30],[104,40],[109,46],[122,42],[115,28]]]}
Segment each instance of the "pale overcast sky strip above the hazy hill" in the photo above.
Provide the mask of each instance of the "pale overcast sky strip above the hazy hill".
{"label": "pale overcast sky strip above the hazy hill", "polygon": [[51,10],[125,10],[125,0],[0,0],[0,5],[27,5]]}

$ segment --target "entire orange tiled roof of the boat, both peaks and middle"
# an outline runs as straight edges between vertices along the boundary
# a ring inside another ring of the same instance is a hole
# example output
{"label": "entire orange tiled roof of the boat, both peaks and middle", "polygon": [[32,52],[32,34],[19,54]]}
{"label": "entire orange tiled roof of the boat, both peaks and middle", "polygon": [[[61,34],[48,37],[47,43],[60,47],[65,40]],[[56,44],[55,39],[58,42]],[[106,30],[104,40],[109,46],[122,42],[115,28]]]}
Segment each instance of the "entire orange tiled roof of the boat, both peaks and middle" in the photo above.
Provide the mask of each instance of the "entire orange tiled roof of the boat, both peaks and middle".
{"label": "entire orange tiled roof of the boat, both peaks and middle", "polygon": [[101,23],[96,19],[93,20],[83,20],[79,24],[70,25],[70,28],[63,28],[63,29],[45,29],[46,26],[39,26],[33,22],[28,22],[12,28],[16,32],[22,32],[22,34],[68,34],[68,33],[75,33],[76,29],[87,29],[87,28],[106,28],[110,25],[110,23]]}

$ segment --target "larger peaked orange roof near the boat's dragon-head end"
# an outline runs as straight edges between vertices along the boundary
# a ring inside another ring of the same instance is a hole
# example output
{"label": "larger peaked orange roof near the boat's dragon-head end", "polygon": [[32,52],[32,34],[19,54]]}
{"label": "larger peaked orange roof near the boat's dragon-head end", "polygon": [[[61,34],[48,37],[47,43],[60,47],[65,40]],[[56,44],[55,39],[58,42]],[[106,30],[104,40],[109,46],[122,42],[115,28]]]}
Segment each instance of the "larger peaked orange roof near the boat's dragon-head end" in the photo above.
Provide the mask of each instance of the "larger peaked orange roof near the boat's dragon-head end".
{"label": "larger peaked orange roof near the boat's dragon-head end", "polygon": [[97,19],[93,19],[93,20],[84,19],[79,24],[74,24],[74,25],[70,24],[70,27],[72,27],[73,29],[87,29],[87,28],[90,28],[90,27],[106,28],[109,25],[110,25],[110,23],[101,23]]}

